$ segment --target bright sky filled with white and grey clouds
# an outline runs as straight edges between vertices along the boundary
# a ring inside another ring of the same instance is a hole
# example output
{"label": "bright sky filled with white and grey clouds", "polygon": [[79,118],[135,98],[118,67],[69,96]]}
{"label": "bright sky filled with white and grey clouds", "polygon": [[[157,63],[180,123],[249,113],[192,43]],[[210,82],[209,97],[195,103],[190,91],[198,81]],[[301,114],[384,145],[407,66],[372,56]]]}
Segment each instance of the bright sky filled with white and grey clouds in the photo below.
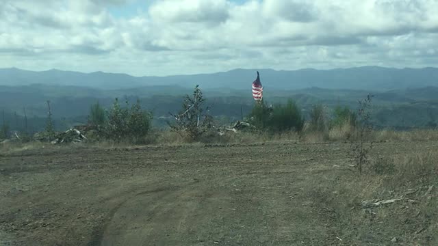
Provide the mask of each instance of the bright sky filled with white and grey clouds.
{"label": "bright sky filled with white and grey clouds", "polygon": [[438,64],[437,0],[0,0],[0,67],[169,75]]}

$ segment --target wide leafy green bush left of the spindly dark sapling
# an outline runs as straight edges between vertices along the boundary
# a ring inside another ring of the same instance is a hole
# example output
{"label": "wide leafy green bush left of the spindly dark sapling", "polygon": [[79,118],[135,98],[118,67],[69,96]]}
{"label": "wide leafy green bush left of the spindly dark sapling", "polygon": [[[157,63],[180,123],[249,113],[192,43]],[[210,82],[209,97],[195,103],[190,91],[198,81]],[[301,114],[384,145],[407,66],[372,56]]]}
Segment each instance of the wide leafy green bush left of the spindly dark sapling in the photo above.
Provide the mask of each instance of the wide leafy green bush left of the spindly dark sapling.
{"label": "wide leafy green bush left of the spindly dark sapling", "polygon": [[118,99],[114,101],[112,109],[108,112],[105,135],[108,139],[117,142],[127,140],[142,143],[151,129],[152,115],[142,110],[140,100],[131,107],[128,101],[125,103],[125,107],[120,107]]}

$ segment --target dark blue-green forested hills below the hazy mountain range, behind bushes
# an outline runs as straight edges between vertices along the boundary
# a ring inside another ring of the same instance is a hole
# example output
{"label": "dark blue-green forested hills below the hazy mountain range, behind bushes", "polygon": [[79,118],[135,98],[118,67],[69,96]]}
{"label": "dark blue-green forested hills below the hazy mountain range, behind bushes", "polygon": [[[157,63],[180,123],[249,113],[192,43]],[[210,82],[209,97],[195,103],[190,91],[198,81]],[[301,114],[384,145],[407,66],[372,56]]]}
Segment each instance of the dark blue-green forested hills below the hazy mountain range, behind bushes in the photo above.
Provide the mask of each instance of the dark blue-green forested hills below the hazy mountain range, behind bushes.
{"label": "dark blue-green forested hills below the hazy mountain range, behind bushes", "polygon": [[[206,89],[209,113],[222,122],[240,120],[253,107],[253,98],[248,90]],[[310,87],[301,90],[275,90],[267,87],[265,100],[270,104],[294,99],[307,116],[313,105],[322,104],[330,112],[335,106],[357,108],[357,101],[368,93],[374,94],[374,121],[378,127],[413,128],[430,127],[437,124],[438,87],[389,90],[331,90]],[[62,130],[74,124],[87,122],[90,106],[99,102],[110,108],[115,98],[133,102],[138,98],[144,109],[152,111],[157,127],[166,126],[169,112],[178,111],[184,94],[191,89],[173,86],[147,86],[124,90],[100,90],[90,87],[62,85],[0,86],[0,110],[11,128],[22,130],[25,126],[25,111],[28,130],[40,131],[47,118],[47,100],[55,127]],[[1,119],[3,120],[3,119]]]}

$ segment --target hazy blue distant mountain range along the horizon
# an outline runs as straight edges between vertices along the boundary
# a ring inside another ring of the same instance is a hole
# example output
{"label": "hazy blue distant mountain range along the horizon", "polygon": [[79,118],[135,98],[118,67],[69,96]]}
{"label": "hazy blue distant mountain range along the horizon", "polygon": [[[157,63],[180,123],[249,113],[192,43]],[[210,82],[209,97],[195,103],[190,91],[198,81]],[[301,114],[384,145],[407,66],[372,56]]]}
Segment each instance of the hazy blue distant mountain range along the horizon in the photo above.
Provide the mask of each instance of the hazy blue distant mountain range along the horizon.
{"label": "hazy blue distant mountain range along the horizon", "polygon": [[[333,70],[260,69],[266,90],[298,90],[309,87],[350,90],[401,90],[416,87],[438,87],[438,68],[382,68],[376,66]],[[256,77],[256,70],[235,69],[212,74],[176,75],[168,77],[133,77],[106,72],[71,72],[47,70],[33,72],[18,68],[0,68],[0,85],[75,85],[101,90],[177,85],[205,89],[244,90]],[[164,88],[162,88],[164,89]]]}

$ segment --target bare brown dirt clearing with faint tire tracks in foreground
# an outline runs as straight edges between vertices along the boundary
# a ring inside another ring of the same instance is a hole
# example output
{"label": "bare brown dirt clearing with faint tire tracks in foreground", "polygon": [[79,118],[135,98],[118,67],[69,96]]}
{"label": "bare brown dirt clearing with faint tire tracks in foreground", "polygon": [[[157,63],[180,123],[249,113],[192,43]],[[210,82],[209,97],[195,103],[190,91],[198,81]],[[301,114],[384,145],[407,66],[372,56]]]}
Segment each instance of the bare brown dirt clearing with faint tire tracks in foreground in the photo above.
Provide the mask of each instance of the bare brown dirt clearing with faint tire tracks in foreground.
{"label": "bare brown dirt clearing with faint tire tracks in foreground", "polygon": [[[437,146],[378,143],[373,154]],[[335,203],[357,176],[349,148],[279,141],[3,154],[0,245],[413,245],[421,228],[388,229],[390,210],[370,219],[354,202],[348,214]],[[407,202],[395,206],[411,213]],[[418,235],[436,228],[435,215]],[[432,232],[418,240],[437,242]]]}

